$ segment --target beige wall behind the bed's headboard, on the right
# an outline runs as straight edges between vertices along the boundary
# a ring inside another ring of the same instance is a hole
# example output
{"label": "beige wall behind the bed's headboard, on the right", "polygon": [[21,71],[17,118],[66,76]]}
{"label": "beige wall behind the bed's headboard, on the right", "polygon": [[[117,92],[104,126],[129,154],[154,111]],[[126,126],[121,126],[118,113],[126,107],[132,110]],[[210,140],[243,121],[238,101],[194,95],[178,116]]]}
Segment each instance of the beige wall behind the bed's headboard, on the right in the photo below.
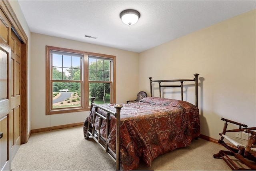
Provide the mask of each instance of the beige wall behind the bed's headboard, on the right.
{"label": "beige wall behind the bed's headboard, on the right", "polygon": [[[256,10],[140,53],[140,89],[199,75],[201,133],[218,139],[221,117],[256,125]],[[186,87],[186,86],[185,86]],[[194,88],[185,99],[194,103]],[[165,97],[174,97],[167,94]],[[158,91],[154,91],[158,96]]]}

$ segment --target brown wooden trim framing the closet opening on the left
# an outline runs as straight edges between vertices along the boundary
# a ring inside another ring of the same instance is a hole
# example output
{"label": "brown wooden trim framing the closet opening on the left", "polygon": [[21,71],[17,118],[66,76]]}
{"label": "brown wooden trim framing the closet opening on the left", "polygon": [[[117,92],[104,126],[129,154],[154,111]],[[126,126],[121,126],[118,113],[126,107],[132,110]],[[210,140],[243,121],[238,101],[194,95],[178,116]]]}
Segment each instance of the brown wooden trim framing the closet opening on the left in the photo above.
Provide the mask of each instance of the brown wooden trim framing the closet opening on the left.
{"label": "brown wooden trim framing the closet opening on the left", "polygon": [[28,37],[24,32],[20,22],[14,10],[12,9],[8,0],[1,0],[0,1],[1,10],[4,12],[6,18],[12,25],[12,28],[18,34],[18,37],[21,39],[22,46],[21,46],[21,63],[20,63],[20,140],[21,143],[28,142],[28,91],[27,91],[27,58],[28,58]]}

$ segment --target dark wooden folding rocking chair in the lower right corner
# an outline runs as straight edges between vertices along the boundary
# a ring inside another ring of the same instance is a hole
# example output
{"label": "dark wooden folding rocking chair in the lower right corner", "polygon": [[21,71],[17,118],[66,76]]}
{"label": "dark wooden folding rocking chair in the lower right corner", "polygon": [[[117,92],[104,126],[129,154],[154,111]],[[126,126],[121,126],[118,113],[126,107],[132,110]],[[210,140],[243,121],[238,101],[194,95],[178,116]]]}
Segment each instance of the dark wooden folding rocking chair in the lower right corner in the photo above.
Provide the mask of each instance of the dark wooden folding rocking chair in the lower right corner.
{"label": "dark wooden folding rocking chair in the lower right corner", "polygon": [[[238,165],[230,159],[230,156],[234,156],[238,159],[241,163],[248,166],[250,169],[256,169],[256,127],[250,127],[242,123],[238,123],[235,121],[231,121],[228,119],[221,118],[222,121],[225,121],[223,131],[220,133],[221,138],[219,139],[218,143],[226,147],[228,151],[220,150],[219,153],[214,154],[214,158],[222,158],[228,166],[232,170],[247,170],[242,167],[238,167]],[[228,123],[232,123],[238,125],[238,129],[230,129],[227,130]],[[244,127],[244,128],[243,128]],[[240,132],[244,131],[248,133],[248,140],[242,140],[238,138],[231,137],[230,135],[226,135],[227,132]],[[225,143],[223,140],[226,139],[232,145]]]}

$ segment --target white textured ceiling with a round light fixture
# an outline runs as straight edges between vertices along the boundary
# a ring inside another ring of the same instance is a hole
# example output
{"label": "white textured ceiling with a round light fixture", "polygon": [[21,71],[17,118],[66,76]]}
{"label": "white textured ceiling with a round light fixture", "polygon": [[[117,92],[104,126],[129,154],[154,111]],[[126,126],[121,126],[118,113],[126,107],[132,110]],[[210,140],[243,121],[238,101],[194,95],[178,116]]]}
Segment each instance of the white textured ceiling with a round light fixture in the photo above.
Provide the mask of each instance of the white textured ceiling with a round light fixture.
{"label": "white textured ceiling with a round light fixture", "polygon": [[[31,32],[142,52],[256,9],[256,0],[18,0]],[[119,14],[140,12],[131,27]],[[86,38],[84,35],[97,37]]]}

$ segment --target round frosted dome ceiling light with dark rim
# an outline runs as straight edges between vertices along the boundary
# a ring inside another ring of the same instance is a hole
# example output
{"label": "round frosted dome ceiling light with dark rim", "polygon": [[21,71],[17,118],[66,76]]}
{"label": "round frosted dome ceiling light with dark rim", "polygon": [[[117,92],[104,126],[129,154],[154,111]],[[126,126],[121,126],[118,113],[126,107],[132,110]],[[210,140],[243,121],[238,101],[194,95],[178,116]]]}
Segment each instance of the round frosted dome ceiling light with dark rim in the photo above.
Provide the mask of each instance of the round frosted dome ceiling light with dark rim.
{"label": "round frosted dome ceiling light with dark rim", "polygon": [[138,19],[140,18],[140,13],[132,9],[123,10],[120,13],[120,18],[124,24],[131,26],[138,21]]}

